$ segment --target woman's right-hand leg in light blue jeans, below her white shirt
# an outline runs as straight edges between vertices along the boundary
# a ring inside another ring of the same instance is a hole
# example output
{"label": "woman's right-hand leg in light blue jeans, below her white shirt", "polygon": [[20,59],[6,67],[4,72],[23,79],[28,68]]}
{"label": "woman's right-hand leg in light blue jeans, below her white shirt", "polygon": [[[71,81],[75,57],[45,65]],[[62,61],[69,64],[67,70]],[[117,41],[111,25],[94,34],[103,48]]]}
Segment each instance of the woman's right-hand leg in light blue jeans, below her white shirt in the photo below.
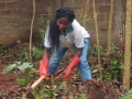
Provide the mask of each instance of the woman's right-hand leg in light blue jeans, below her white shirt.
{"label": "woman's right-hand leg in light blue jeans, below her white shirt", "polygon": [[85,46],[80,56],[79,70],[81,73],[82,80],[86,81],[88,79],[92,79],[90,67],[87,61],[89,38],[85,38],[84,43]]}

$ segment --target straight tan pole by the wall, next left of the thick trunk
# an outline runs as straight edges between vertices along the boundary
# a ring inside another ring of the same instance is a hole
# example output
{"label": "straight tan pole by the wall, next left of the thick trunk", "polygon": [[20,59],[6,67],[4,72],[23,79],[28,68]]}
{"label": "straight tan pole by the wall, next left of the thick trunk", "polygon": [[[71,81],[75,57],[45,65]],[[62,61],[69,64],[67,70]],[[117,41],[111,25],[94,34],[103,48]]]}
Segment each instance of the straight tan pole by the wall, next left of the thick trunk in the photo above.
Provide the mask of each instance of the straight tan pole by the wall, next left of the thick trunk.
{"label": "straight tan pole by the wall, next left of the thick trunk", "polygon": [[112,21],[113,21],[113,2],[114,0],[111,0],[111,7],[110,7],[110,16],[109,16],[109,30],[108,30],[108,51],[107,51],[107,55],[109,55],[111,53],[110,48],[111,48],[111,34],[112,34]]}

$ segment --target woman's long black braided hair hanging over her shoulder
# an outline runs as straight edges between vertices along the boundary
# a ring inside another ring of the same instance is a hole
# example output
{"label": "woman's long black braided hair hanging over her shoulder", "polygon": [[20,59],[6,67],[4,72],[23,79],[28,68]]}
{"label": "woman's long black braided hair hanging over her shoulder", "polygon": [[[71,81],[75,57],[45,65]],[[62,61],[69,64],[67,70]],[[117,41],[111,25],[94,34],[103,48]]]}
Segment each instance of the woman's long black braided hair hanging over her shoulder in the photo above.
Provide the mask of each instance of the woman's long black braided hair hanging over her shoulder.
{"label": "woman's long black braided hair hanging over her shoulder", "polygon": [[53,47],[59,45],[59,34],[61,31],[57,28],[57,20],[61,18],[67,18],[72,23],[75,19],[74,11],[70,10],[68,7],[61,7],[56,10],[56,16],[50,23],[50,43]]}

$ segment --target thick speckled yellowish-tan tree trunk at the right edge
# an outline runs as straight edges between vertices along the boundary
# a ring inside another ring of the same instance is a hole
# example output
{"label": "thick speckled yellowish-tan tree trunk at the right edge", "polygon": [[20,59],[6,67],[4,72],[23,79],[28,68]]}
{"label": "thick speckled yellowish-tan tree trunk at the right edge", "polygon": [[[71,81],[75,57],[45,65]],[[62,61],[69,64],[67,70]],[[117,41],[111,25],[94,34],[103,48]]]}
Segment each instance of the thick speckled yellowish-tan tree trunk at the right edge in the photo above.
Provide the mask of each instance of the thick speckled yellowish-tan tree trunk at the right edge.
{"label": "thick speckled yellowish-tan tree trunk at the right edge", "polygon": [[123,89],[130,88],[132,1],[127,0]]}

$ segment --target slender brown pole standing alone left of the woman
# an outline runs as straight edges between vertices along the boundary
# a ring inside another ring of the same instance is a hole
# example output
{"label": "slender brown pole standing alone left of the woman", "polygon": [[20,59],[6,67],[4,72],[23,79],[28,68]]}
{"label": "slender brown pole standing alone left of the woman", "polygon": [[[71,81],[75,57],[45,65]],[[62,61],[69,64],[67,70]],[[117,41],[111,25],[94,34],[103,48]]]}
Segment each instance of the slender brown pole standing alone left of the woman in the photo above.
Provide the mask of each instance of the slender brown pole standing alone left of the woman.
{"label": "slender brown pole standing alone left of the woman", "polygon": [[31,33],[30,33],[30,62],[32,62],[32,35],[33,35],[33,22],[35,18],[35,0],[33,0],[33,18],[31,22]]}

